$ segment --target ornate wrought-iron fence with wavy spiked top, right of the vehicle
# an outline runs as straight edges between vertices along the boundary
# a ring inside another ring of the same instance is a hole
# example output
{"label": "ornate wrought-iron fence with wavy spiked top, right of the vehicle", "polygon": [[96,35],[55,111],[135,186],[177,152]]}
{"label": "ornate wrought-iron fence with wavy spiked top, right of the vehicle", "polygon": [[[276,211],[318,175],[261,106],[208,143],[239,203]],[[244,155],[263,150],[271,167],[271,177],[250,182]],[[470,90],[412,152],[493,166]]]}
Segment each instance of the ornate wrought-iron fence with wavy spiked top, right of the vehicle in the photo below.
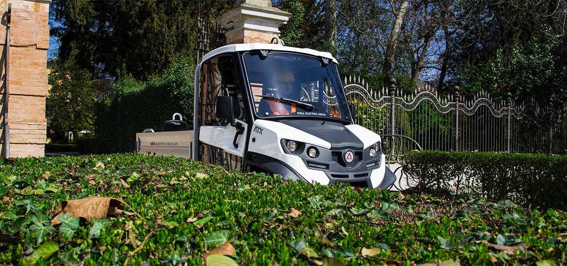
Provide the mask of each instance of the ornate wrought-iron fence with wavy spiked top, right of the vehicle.
{"label": "ornate wrought-iron fence with wavy spiked top, right of the vehicle", "polygon": [[353,76],[344,85],[355,122],[382,135],[391,156],[413,149],[567,154],[566,104],[495,100],[485,92],[440,96],[427,85],[404,93],[395,80],[376,90]]}

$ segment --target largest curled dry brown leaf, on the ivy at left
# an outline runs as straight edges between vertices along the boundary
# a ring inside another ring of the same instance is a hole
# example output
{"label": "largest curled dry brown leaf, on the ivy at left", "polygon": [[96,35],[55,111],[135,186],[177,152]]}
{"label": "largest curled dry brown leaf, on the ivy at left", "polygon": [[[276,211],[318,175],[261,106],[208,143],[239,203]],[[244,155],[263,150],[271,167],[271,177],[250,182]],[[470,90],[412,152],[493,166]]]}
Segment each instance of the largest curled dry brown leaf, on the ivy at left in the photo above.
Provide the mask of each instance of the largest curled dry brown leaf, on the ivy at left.
{"label": "largest curled dry brown leaf, on the ivy at left", "polygon": [[[120,209],[120,210],[124,209],[122,204],[126,204],[126,203],[121,199],[103,198],[99,196],[88,197],[78,200],[65,200],[62,201],[59,205],[57,205],[54,218],[51,220],[51,225],[53,226],[53,225],[61,224],[61,221],[57,218],[57,215],[65,214],[67,212],[72,217],[83,217],[86,218],[87,220],[89,220],[90,218],[103,219],[106,218],[108,214],[115,214],[117,212],[116,209]],[[124,214],[126,213],[128,212],[124,212]]]}

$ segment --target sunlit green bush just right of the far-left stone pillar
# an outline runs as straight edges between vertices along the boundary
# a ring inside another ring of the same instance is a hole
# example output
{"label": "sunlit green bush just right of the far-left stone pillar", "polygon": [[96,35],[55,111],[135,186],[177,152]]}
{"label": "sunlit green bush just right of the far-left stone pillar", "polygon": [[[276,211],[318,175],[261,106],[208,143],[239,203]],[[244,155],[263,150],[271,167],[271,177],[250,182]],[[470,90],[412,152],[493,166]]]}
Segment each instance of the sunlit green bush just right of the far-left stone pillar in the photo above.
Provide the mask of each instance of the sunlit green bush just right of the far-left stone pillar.
{"label": "sunlit green bush just right of the far-left stone pillar", "polygon": [[85,69],[71,63],[58,63],[50,76],[49,95],[45,100],[45,115],[57,134],[94,128],[96,81]]}

